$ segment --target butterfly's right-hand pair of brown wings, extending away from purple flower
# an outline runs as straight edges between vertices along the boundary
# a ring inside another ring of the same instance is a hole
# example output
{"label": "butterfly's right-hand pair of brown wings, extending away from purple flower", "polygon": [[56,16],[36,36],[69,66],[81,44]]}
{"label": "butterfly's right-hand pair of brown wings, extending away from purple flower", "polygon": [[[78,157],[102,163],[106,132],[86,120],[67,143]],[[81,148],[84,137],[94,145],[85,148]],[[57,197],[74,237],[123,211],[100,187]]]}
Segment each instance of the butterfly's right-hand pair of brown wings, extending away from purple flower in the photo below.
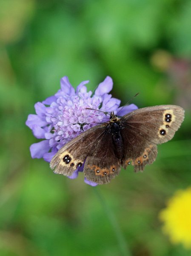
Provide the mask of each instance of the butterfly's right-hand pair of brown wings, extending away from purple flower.
{"label": "butterfly's right-hand pair of brown wings, extending away from purple flower", "polygon": [[120,119],[125,145],[123,167],[132,164],[139,171],[153,163],[157,144],[171,140],[183,119],[184,110],[174,105],[140,108],[123,116]]}

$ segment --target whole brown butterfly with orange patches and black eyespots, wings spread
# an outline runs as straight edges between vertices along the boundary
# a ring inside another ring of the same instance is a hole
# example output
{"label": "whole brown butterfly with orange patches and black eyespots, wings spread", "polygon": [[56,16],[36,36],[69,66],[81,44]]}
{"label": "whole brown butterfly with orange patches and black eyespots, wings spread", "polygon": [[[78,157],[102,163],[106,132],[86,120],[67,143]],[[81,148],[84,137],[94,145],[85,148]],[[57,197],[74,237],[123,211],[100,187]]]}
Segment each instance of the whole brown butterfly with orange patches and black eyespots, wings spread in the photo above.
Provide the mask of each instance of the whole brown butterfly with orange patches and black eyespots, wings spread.
{"label": "whole brown butterfly with orange patches and black eyespots, wings spread", "polygon": [[179,106],[160,105],[140,108],[94,126],[64,145],[52,158],[55,173],[71,176],[84,164],[87,180],[98,184],[110,182],[121,166],[143,171],[157,157],[157,144],[171,140],[184,119]]}

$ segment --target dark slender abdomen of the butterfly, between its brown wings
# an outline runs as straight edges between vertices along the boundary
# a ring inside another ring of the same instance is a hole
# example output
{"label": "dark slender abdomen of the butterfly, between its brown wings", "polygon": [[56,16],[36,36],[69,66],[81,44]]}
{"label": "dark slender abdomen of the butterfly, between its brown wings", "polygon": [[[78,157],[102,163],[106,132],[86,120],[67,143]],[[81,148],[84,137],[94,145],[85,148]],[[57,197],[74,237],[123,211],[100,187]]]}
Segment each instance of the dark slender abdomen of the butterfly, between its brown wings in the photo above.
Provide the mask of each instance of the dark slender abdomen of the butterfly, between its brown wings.
{"label": "dark slender abdomen of the butterfly, between its brown wings", "polygon": [[111,134],[114,145],[114,153],[121,160],[124,155],[123,139],[120,133],[120,125],[118,122],[111,123]]}

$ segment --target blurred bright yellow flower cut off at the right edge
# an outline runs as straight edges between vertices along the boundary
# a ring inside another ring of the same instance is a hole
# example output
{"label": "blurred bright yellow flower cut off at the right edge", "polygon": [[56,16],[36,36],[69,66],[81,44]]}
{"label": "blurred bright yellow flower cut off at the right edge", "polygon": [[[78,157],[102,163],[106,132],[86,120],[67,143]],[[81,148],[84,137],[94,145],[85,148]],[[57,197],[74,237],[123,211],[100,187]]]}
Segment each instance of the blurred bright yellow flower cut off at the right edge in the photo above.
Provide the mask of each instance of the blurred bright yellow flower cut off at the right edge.
{"label": "blurred bright yellow flower cut off at the right edge", "polygon": [[160,212],[160,219],[164,222],[163,231],[172,243],[191,248],[191,187],[175,193]]}

